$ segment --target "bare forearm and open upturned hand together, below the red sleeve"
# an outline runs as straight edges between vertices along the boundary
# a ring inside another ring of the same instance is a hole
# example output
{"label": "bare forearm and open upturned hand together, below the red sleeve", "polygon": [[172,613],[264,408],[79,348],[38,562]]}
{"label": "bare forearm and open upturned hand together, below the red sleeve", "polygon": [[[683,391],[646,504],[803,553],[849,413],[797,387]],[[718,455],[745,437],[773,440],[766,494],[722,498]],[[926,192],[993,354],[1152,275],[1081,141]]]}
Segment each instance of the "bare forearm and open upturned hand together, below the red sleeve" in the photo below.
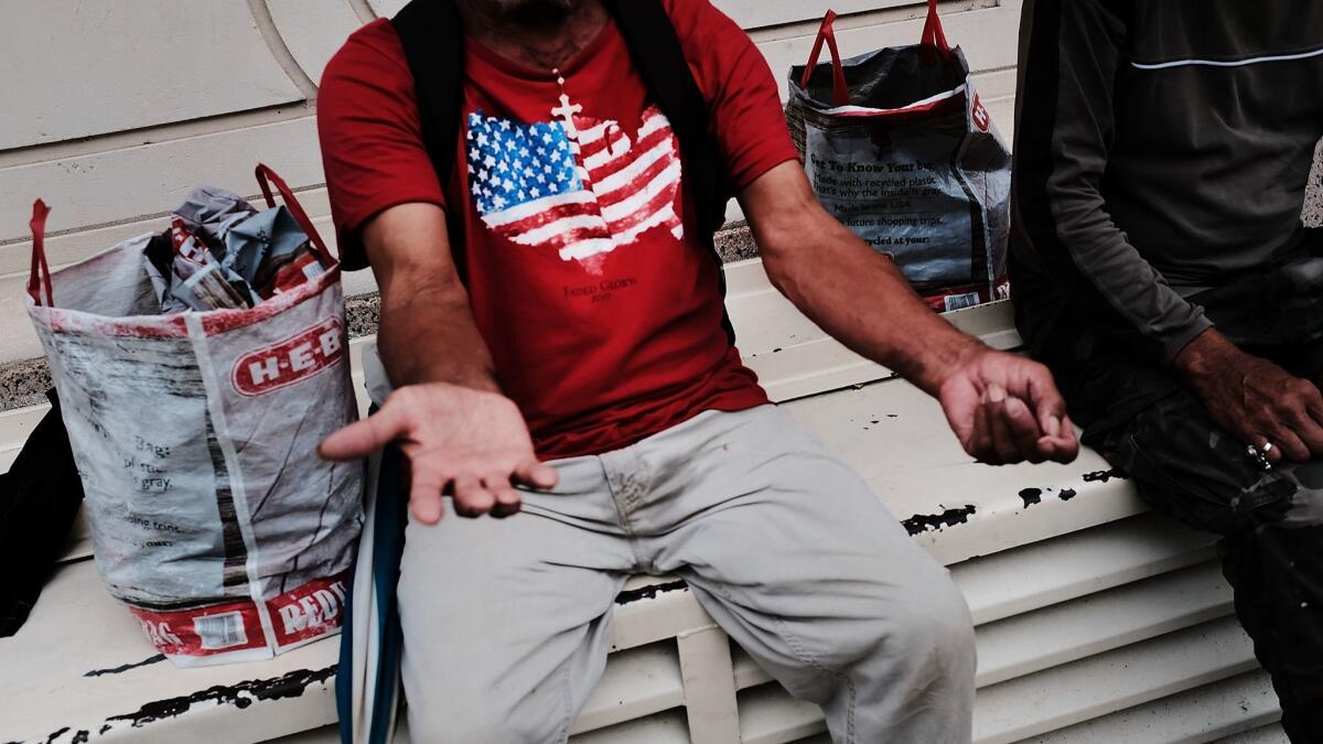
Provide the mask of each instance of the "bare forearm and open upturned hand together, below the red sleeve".
{"label": "bare forearm and open upturned hand together, below the red sleeve", "polygon": [[329,459],[357,459],[397,442],[409,457],[409,502],[433,524],[442,494],[460,516],[508,516],[513,485],[549,488],[556,470],[533,454],[528,426],[500,393],[455,271],[446,218],[431,204],[386,209],[364,228],[381,290],[377,347],[396,391],[381,410],[321,442]]}

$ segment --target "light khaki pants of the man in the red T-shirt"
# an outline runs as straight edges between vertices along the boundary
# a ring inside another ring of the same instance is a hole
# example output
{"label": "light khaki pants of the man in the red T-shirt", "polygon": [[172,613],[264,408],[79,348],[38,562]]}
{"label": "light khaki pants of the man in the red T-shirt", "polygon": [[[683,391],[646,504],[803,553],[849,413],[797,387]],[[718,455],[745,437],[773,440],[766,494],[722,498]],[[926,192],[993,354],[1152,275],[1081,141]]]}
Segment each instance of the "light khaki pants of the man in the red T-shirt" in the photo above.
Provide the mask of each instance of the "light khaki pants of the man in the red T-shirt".
{"label": "light khaki pants of the man in the red T-shirt", "polygon": [[706,412],[553,463],[505,520],[410,523],[398,586],[415,741],[565,741],[632,573],[683,577],[835,741],[970,740],[974,638],[947,572],[786,413]]}

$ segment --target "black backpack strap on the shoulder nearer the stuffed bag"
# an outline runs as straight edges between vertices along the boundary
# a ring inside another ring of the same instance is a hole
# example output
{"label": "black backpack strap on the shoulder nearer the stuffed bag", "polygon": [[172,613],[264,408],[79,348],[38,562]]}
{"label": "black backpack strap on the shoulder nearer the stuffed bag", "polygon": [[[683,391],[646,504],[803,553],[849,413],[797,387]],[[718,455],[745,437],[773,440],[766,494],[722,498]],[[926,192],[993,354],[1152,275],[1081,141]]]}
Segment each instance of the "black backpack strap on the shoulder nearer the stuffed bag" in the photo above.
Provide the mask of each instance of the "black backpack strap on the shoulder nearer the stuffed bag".
{"label": "black backpack strap on the shoulder nearer the stuffed bag", "polygon": [[[455,169],[459,123],[464,103],[464,30],[452,0],[411,0],[393,19],[405,60],[414,78],[418,118],[427,158],[441,187]],[[460,205],[447,205],[450,253],[460,281],[468,283],[464,221]]]}

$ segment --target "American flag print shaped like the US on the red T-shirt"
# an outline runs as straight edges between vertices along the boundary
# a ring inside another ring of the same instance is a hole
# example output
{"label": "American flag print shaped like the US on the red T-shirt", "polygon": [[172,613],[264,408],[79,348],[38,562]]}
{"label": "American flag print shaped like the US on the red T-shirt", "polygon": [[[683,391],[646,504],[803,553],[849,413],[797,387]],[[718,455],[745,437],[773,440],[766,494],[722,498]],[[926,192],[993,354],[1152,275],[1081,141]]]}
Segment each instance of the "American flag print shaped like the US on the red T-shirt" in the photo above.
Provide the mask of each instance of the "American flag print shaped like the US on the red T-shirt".
{"label": "American flag print shaped like the US on the red T-shirt", "polygon": [[554,249],[591,273],[598,257],[652,228],[684,237],[680,156],[656,106],[643,113],[632,140],[617,122],[576,115],[568,98],[557,113],[565,118],[531,124],[468,115],[468,189],[488,229]]}

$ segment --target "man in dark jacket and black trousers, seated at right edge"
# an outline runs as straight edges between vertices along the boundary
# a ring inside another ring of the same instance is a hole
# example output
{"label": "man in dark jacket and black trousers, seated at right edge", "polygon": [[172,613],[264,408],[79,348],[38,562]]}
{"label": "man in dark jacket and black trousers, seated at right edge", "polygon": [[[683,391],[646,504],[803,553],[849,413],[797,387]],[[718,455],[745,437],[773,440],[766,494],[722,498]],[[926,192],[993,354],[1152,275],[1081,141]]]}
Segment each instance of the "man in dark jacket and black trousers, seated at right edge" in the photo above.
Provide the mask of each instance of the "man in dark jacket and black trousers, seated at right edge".
{"label": "man in dark jacket and black trousers, seated at right edge", "polygon": [[1323,4],[1024,5],[1012,293],[1084,442],[1218,532],[1294,741],[1323,741]]}

